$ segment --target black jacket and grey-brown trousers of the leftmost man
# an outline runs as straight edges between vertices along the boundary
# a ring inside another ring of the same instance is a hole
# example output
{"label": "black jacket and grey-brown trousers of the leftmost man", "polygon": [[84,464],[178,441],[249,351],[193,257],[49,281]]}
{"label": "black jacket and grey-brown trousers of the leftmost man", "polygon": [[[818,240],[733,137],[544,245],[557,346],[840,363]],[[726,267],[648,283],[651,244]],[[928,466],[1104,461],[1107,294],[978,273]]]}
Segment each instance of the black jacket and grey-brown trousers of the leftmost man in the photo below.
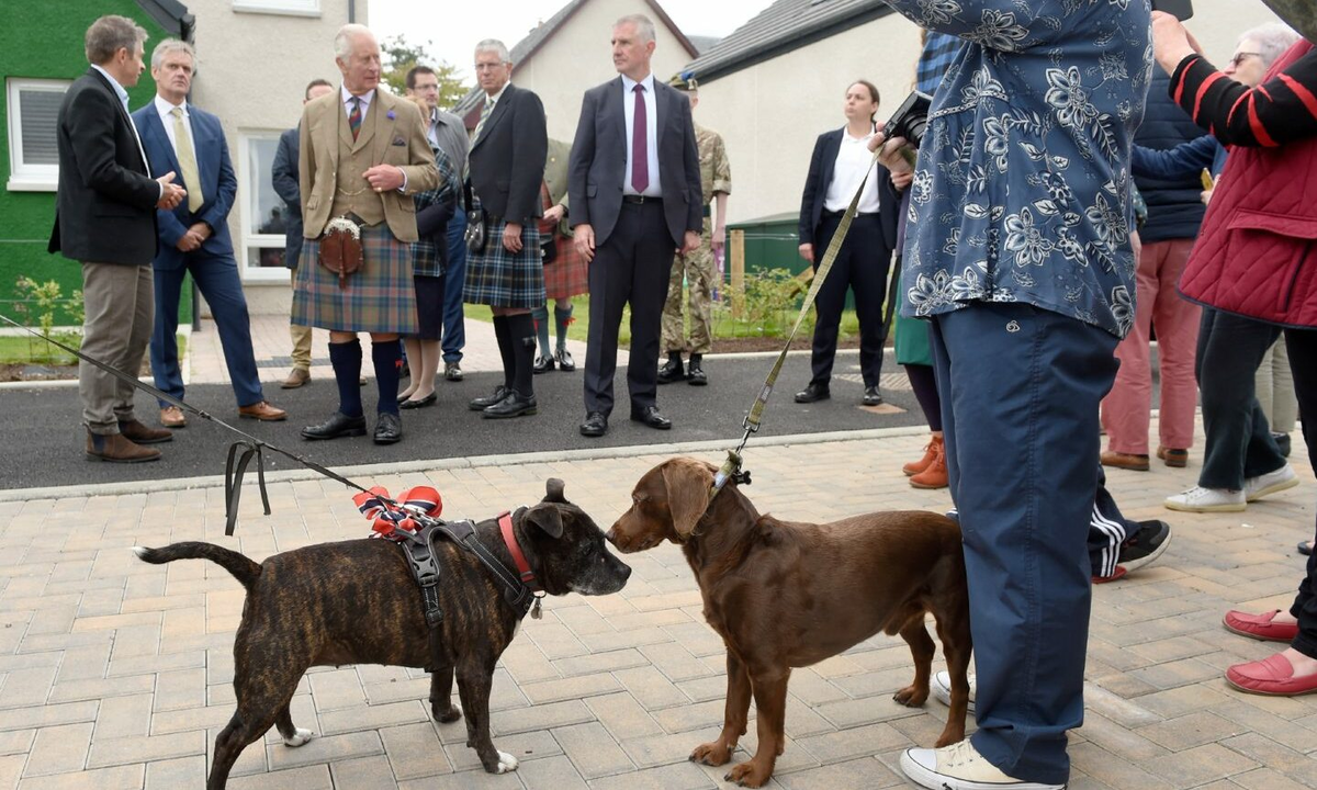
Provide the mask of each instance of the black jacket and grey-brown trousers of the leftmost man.
{"label": "black jacket and grey-brown trousers of the leftmost man", "polygon": [[[128,111],[95,68],[78,78],[59,105],[55,129],[59,192],[51,253],[83,267],[82,349],[133,377],[151,334],[155,203],[161,186],[149,172]],[[86,362],[78,369],[83,421],[115,434],[134,420],[133,387]]]}

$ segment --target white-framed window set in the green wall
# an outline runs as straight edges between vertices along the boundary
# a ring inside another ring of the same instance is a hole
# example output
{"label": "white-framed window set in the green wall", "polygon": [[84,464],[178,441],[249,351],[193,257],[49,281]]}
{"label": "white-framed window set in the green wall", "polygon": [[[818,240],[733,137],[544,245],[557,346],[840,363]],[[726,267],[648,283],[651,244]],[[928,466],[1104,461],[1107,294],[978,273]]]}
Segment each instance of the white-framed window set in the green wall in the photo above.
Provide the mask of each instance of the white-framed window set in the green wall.
{"label": "white-framed window set in the green wall", "polygon": [[11,191],[54,192],[59,182],[55,125],[65,91],[57,79],[7,79]]}

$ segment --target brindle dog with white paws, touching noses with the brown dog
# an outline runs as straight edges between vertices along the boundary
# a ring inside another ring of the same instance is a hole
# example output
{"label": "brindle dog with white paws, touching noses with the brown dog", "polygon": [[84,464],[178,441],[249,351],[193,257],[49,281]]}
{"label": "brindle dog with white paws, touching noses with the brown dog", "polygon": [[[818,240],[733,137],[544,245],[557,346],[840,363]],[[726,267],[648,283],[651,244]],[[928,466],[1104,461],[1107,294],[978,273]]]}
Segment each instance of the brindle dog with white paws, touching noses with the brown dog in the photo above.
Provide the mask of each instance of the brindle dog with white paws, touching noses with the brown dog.
{"label": "brindle dog with white paws, touching noses with the brown dog", "polygon": [[[514,519],[516,540],[549,595],[607,595],[627,583],[631,567],[614,557],[603,532],[562,495],[562,481],[548,482],[540,504]],[[479,541],[515,578],[498,520],[475,525]],[[284,552],[261,565],[207,542],[162,549],[136,548],[146,562],[209,560],[246,587],[242,623],[233,644],[233,690],[238,708],[215,739],[207,790],[221,790],[248,744],[270,725],[283,743],[300,747],[312,733],[294,727],[288,703],[311,666],[386,664],[428,666],[431,648],[420,589],[387,540],[350,540]],[[516,770],[516,758],[494,748],[489,698],[494,664],[512,641],[520,620],[503,587],[475,556],[449,541],[436,542],[444,610],[443,665],[431,675],[431,712],[454,722],[453,674],[466,708],[466,745],[490,773]]]}

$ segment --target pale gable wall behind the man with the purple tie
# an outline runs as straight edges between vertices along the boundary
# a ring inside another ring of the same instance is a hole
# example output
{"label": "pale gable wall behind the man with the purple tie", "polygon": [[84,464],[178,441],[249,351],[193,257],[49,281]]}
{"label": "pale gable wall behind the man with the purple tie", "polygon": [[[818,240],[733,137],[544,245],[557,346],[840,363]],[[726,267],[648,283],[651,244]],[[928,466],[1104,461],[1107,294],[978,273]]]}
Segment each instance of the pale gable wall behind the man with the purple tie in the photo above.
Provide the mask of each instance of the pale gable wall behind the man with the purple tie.
{"label": "pale gable wall behind the man with the purple tie", "polygon": [[512,82],[539,93],[548,116],[549,137],[570,142],[587,88],[618,75],[610,40],[618,18],[643,13],[655,21],[655,78],[666,82],[691,55],[644,0],[585,3],[525,63],[514,63]]}

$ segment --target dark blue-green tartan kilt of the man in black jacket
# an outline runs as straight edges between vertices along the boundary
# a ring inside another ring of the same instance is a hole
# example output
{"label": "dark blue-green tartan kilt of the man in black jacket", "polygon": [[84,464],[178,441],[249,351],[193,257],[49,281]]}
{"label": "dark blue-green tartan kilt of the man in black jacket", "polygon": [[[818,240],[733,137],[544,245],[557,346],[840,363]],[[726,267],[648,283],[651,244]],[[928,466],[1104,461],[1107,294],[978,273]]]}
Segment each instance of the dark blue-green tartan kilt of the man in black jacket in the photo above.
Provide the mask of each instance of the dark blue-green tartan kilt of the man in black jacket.
{"label": "dark blue-green tartan kilt of the man in black jacket", "polygon": [[533,309],[544,304],[544,265],[540,263],[540,230],[532,223],[522,226],[522,251],[503,246],[507,220],[489,224],[485,251],[466,254],[466,282],[462,302]]}

